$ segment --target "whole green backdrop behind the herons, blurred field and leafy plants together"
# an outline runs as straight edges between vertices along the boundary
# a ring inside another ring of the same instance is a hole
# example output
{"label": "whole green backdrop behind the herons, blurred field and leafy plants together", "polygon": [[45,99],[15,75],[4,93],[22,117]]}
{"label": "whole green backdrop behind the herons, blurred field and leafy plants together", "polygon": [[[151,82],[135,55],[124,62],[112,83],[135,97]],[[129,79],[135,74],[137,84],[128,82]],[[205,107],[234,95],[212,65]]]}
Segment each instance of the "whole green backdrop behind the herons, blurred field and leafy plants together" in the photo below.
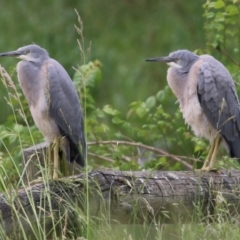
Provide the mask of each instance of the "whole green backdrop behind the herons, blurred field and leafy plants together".
{"label": "whole green backdrop behind the herons, blurred field and leafy plants together", "polygon": [[[74,78],[86,117],[90,168],[186,169],[182,162],[201,167],[209,142],[195,137],[184,124],[176,97],[166,87],[167,65],[145,59],[166,56],[178,49],[212,54],[229,69],[239,93],[238,2],[9,0],[0,1],[0,9],[0,52],[38,44]],[[79,26],[76,11],[84,26],[85,59],[78,44],[82,39],[75,28]],[[16,85],[17,62],[13,58],[0,59]],[[74,74],[78,66],[85,69],[85,77],[80,73],[83,78],[77,80]],[[99,74],[91,75],[94,68]],[[91,76],[87,76],[86,69]],[[83,88],[87,78],[92,78],[92,84]],[[20,100],[8,96],[0,82],[0,167],[3,164],[10,179],[16,178],[12,164],[22,167],[22,149],[43,141],[19,92]],[[6,96],[13,102],[7,104]],[[20,102],[29,128],[19,111]],[[177,155],[182,162],[144,147],[130,147],[129,143],[121,147],[99,144],[106,140],[143,143]],[[220,164],[230,163],[225,161],[226,152],[220,154],[224,156]]]}

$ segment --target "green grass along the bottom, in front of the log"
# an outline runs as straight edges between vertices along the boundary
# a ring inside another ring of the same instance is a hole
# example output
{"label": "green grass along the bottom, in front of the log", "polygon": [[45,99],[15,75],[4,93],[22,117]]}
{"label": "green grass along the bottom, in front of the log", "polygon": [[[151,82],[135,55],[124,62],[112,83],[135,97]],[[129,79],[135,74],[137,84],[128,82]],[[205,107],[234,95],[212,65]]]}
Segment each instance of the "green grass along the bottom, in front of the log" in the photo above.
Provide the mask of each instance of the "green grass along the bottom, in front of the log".
{"label": "green grass along the bottom, in front of the log", "polygon": [[[61,180],[64,181],[64,180]],[[65,180],[65,184],[71,189],[72,182]],[[9,239],[99,239],[99,240],[145,240],[145,239],[239,239],[239,219],[238,216],[230,214],[226,206],[217,207],[216,213],[213,216],[203,216],[199,207],[196,206],[195,211],[199,214],[194,219],[190,218],[188,223],[184,223],[182,219],[175,219],[174,224],[164,224],[160,222],[143,223],[143,224],[118,224],[111,223],[106,211],[103,209],[99,215],[88,215],[86,204],[88,199],[83,195],[83,199],[74,199],[72,194],[65,192],[57,196],[50,191],[49,181],[44,181],[46,185],[45,200],[38,203],[38,208],[35,209],[33,196],[29,193],[28,200],[30,208],[33,209],[33,216],[29,218],[25,212],[19,214],[21,206],[15,206],[11,202],[16,192],[6,191],[8,202],[10,203],[13,214],[17,216],[15,226],[19,225],[18,233]],[[51,183],[50,183],[51,184]],[[72,186],[74,187],[74,186]],[[86,185],[86,187],[89,187]],[[63,188],[62,190],[64,190]],[[90,189],[89,189],[90,190]],[[63,197],[64,196],[64,197]],[[99,198],[101,193],[99,192]],[[55,201],[61,203],[60,211],[56,211],[51,207]],[[80,203],[79,204],[77,204]],[[81,206],[81,207],[80,207]],[[92,206],[91,206],[92,207]],[[190,213],[191,214],[191,213]],[[24,221],[23,221],[24,219]],[[47,227],[48,223],[51,228]],[[31,228],[31,234],[26,233],[26,225]],[[21,238],[20,238],[21,236]],[[4,231],[0,229],[1,239],[8,239]]]}

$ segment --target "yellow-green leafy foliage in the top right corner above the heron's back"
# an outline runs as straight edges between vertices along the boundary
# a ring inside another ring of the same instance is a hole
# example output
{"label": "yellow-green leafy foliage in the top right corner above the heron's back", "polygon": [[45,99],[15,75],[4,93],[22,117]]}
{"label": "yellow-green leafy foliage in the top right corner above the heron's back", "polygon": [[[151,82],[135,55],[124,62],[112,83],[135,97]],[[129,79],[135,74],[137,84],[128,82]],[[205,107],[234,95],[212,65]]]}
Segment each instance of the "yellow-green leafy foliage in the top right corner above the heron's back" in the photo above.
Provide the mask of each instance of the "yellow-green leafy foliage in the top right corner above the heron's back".
{"label": "yellow-green leafy foliage in the top right corner above the heron's back", "polygon": [[[218,54],[217,56],[225,63],[233,77],[239,79],[239,1],[208,0],[203,7],[208,51],[217,50],[216,55]],[[239,84],[239,81],[237,84]]]}

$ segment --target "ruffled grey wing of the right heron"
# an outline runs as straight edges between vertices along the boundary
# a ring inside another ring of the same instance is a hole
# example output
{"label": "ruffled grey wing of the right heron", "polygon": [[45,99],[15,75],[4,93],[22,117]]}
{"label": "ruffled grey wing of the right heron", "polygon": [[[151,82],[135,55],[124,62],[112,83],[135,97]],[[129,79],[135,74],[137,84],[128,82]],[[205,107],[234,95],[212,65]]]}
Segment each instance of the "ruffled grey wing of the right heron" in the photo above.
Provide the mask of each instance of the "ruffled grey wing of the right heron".
{"label": "ruffled grey wing of the right heron", "polygon": [[203,61],[197,91],[208,121],[228,143],[231,156],[240,159],[240,108],[230,73],[213,58]]}

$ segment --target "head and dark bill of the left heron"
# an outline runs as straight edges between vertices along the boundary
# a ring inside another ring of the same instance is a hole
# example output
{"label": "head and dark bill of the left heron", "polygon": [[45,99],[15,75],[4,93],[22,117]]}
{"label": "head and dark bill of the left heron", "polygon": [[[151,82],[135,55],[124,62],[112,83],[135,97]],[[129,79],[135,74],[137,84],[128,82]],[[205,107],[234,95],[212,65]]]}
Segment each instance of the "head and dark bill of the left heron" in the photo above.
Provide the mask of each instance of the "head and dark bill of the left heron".
{"label": "head and dark bill of the left heron", "polygon": [[16,51],[0,53],[0,57],[16,57],[25,61],[37,62],[48,58],[48,52],[38,45],[32,44],[18,48]]}

